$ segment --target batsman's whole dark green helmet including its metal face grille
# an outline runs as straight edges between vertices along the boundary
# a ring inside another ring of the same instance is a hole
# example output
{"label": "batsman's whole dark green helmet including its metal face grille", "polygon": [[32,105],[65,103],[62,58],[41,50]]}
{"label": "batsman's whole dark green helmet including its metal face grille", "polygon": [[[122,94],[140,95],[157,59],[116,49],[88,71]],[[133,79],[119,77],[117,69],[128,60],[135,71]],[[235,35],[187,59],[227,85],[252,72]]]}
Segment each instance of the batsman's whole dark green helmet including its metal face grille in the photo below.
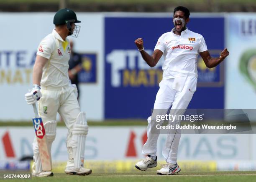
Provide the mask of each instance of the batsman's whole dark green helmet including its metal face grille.
{"label": "batsman's whole dark green helmet including its metal face grille", "polygon": [[77,20],[77,15],[73,10],[68,8],[61,9],[56,12],[54,15],[54,25],[67,25],[69,30],[69,35],[72,37],[77,37],[80,31],[80,26],[75,25],[75,28],[72,32],[71,23],[80,23],[81,21]]}

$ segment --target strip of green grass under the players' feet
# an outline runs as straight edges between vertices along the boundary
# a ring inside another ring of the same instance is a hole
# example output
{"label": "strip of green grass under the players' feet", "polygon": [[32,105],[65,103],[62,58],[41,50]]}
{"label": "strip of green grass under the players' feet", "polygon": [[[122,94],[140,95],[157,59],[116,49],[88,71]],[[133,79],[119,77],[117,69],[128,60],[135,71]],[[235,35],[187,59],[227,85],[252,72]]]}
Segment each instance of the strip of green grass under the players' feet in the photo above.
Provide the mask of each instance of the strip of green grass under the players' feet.
{"label": "strip of green grass under the players' feet", "polygon": [[[8,180],[15,181],[15,180]],[[28,180],[19,180],[28,181]],[[179,175],[156,175],[156,172],[92,173],[89,176],[57,173],[53,177],[32,177],[36,182],[253,182],[255,171],[246,172],[181,172]]]}

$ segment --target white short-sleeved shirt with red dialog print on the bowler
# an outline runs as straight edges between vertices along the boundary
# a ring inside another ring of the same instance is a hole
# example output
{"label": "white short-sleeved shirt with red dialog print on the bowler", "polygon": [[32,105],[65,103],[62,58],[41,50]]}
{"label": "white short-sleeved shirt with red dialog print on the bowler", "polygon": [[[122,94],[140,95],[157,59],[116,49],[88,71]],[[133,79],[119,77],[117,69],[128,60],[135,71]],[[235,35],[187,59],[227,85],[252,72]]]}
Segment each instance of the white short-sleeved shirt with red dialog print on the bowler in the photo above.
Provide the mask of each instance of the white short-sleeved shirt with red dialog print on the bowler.
{"label": "white short-sleeved shirt with red dialog print on the bowler", "polygon": [[161,35],[155,47],[163,52],[163,79],[186,75],[197,77],[197,56],[207,50],[205,39],[188,29],[181,35],[174,34],[174,30]]}

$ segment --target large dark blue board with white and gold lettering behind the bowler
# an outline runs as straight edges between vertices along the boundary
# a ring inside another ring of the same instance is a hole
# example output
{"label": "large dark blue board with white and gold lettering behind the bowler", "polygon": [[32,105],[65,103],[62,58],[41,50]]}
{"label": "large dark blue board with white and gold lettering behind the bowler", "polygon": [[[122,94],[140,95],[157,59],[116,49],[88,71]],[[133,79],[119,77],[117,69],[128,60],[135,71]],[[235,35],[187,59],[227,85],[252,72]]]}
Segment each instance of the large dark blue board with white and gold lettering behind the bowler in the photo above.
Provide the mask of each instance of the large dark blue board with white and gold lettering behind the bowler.
{"label": "large dark blue board with white and gold lettering behind the bowler", "polygon": [[[192,17],[189,30],[205,38],[212,57],[224,48],[224,17]],[[147,118],[151,115],[161,63],[149,67],[134,41],[142,37],[151,54],[158,38],[173,28],[172,17],[105,17],[105,118]],[[212,70],[198,57],[198,84],[189,108],[223,108],[223,65]]]}

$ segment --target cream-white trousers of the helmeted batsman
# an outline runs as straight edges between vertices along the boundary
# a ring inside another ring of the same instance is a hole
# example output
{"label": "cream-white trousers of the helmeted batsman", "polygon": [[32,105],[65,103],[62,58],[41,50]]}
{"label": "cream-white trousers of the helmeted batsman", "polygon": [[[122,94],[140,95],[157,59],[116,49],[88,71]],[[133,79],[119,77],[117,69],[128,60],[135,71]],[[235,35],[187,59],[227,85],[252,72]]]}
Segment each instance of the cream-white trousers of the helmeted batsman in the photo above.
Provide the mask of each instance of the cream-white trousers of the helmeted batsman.
{"label": "cream-white trousers of the helmeted batsman", "polygon": [[[72,129],[80,113],[80,106],[77,100],[77,89],[72,86],[67,87],[41,87],[42,97],[38,101],[38,114],[44,123],[56,121],[57,112],[67,126],[67,148],[72,146]],[[56,128],[55,128],[56,131]],[[33,142],[34,155],[39,153],[36,138]],[[68,151],[69,153],[69,151]]]}

